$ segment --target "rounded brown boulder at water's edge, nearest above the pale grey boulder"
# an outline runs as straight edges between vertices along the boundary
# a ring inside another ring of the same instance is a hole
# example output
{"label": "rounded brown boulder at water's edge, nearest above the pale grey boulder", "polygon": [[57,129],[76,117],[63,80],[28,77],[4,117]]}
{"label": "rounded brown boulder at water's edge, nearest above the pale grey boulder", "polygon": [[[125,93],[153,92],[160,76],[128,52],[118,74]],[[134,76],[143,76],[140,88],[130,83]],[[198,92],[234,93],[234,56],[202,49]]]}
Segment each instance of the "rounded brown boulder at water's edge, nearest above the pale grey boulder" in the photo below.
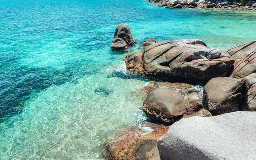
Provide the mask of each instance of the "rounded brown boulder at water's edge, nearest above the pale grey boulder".
{"label": "rounded brown boulder at water's edge, nearest above the pale grey boulder", "polygon": [[184,101],[171,89],[156,89],[148,94],[143,111],[153,121],[171,123],[185,112]]}

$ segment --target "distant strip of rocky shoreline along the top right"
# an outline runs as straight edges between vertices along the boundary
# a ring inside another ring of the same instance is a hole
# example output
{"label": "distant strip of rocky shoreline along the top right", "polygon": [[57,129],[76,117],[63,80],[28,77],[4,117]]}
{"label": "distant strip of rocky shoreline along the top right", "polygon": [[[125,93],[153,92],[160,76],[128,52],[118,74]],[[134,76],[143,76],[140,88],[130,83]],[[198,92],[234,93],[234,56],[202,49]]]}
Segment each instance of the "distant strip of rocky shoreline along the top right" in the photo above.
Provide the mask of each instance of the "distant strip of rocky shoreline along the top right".
{"label": "distant strip of rocky shoreline along the top right", "polygon": [[256,11],[256,2],[228,2],[226,0],[148,0],[166,8],[238,9]]}

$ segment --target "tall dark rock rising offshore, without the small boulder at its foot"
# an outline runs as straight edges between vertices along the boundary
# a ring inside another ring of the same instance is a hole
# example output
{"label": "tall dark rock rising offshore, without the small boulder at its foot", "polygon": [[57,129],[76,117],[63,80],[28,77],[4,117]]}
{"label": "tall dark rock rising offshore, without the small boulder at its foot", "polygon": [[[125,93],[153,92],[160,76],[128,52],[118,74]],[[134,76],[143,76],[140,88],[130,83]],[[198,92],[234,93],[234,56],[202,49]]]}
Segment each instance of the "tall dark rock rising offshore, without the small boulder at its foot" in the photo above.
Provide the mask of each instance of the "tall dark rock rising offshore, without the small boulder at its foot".
{"label": "tall dark rock rising offshore, without the small boulder at its foot", "polygon": [[114,39],[115,38],[123,39],[128,45],[136,43],[136,40],[132,38],[129,26],[126,24],[119,24],[117,26],[114,34]]}

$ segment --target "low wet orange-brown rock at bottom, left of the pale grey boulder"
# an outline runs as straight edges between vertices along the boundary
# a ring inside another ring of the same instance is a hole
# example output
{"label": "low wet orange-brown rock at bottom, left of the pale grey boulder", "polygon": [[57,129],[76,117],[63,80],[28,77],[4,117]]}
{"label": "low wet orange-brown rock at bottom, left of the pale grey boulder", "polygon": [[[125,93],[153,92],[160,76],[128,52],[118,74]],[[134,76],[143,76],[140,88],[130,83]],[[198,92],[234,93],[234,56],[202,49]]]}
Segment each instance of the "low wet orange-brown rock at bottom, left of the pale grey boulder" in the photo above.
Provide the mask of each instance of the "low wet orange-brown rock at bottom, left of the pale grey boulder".
{"label": "low wet orange-brown rock at bottom, left of the pale grey boulder", "polygon": [[159,160],[157,139],[163,136],[169,126],[145,122],[142,127],[153,131],[131,128],[108,142],[108,153],[112,160]]}

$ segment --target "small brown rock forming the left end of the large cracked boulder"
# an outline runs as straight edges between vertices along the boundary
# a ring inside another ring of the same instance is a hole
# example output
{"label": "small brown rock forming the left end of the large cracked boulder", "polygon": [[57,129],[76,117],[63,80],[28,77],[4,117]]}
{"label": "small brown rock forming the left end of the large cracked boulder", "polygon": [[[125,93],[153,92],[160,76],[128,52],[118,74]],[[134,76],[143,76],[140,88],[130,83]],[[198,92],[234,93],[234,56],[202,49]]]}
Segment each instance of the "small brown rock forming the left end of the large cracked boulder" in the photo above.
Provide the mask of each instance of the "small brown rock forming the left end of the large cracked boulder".
{"label": "small brown rock forming the left end of the large cracked boulder", "polygon": [[126,69],[128,71],[134,72],[136,75],[143,75],[144,69],[143,69],[143,54],[144,49],[139,49],[135,52],[132,52],[128,55],[126,55]]}

